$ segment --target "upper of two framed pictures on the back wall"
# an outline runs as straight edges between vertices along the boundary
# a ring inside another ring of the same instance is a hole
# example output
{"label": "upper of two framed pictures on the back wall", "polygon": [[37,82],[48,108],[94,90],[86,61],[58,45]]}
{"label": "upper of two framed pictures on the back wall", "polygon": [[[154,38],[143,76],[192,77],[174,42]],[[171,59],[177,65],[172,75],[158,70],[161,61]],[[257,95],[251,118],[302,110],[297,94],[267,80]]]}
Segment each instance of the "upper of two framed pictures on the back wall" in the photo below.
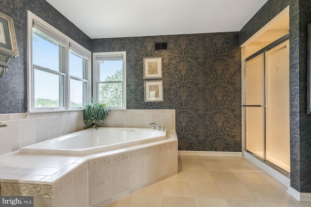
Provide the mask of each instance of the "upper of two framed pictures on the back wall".
{"label": "upper of two framed pictures on the back wall", "polygon": [[162,58],[144,58],[144,79],[162,78]]}

